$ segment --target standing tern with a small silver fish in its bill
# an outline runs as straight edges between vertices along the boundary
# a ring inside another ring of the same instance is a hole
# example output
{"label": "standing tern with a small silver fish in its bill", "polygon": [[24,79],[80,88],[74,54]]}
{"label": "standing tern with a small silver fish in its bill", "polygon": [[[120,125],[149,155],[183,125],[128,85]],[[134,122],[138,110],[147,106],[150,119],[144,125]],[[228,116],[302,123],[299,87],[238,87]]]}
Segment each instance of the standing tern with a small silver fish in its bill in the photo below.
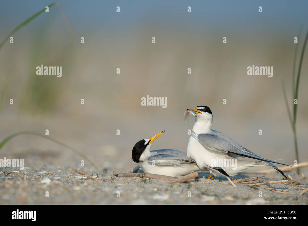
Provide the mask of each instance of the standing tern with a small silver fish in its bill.
{"label": "standing tern with a small silver fish in its bill", "polygon": [[[195,116],[193,129],[191,129],[188,124],[187,116],[189,113]],[[184,121],[188,129],[191,129],[191,135],[187,145],[187,156],[196,161],[199,168],[206,167],[209,169],[209,178],[211,174],[213,174],[213,177],[221,174],[228,177],[236,176],[237,173],[253,166],[260,166],[260,164],[271,166],[286,177],[286,175],[272,163],[281,165],[286,164],[262,158],[239,145],[224,133],[213,130],[213,114],[209,107],[197,106],[194,109],[187,109],[184,114]],[[249,159],[241,160],[238,159],[238,157],[247,157]],[[217,164],[218,160],[221,164]],[[231,162],[235,162],[235,166],[229,164]],[[213,177],[211,179],[213,179]]]}

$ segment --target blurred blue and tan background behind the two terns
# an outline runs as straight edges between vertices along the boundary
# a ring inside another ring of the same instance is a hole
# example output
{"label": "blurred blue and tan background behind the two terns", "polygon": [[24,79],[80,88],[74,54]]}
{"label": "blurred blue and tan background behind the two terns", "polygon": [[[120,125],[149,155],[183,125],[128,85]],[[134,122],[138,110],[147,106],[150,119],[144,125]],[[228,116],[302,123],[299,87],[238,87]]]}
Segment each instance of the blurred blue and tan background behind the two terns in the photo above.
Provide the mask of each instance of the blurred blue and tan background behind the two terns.
{"label": "blurred blue and tan background behind the two terns", "polygon": [[[2,1],[0,41],[50,3]],[[22,130],[49,129],[50,137],[86,154],[100,169],[126,172],[135,166],[131,160],[135,143],[162,130],[165,133],[151,150],[186,152],[184,110],[207,105],[213,112],[213,129],[262,157],[294,163],[282,81],[292,106],[294,50],[299,45],[299,59],[308,29],[306,1],[59,3],[73,38],[55,5],[22,27],[12,36],[14,43],[7,41],[0,51],[0,93],[11,71],[0,113],[1,140]],[[301,26],[302,36],[295,44]],[[81,37],[85,43],[80,43]],[[307,54],[298,93],[299,161],[308,161]],[[36,75],[41,64],[62,66],[62,77]],[[247,75],[253,64],[273,66],[273,77]],[[167,108],[141,106],[141,97],[147,95],[166,97]],[[85,105],[80,104],[82,98]],[[1,150],[0,157],[4,156],[25,158],[29,167],[48,163],[75,169],[83,160],[32,135],[15,137]],[[83,169],[95,172],[85,164]]]}

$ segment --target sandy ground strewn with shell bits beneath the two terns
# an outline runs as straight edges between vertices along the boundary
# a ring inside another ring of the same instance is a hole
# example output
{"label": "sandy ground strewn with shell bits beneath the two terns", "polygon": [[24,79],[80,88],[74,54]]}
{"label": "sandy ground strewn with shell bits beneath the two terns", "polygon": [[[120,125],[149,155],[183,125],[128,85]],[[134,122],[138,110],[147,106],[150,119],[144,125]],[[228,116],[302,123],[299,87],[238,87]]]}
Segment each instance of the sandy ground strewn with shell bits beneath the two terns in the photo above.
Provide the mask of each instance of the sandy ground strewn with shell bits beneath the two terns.
{"label": "sandy ground strewn with shell bits beneath the two terns", "polygon": [[[307,168],[302,174],[287,172],[294,180],[307,186]],[[80,169],[86,171],[85,169]],[[278,173],[239,175],[237,178],[259,176],[257,181],[236,184],[218,178],[209,180],[206,172],[181,184],[168,184],[161,179],[116,177],[114,172],[99,175],[96,182],[74,175],[75,169],[51,166],[0,168],[0,204],[308,204],[308,193],[299,195],[304,186],[272,184],[287,192],[251,188],[249,183],[282,180]],[[88,172],[91,174],[91,172]],[[123,173],[123,172],[116,172]],[[267,187],[267,185],[262,185]],[[47,196],[47,193],[48,195]],[[290,193],[289,193],[290,192]],[[262,196],[259,196],[259,195]]]}

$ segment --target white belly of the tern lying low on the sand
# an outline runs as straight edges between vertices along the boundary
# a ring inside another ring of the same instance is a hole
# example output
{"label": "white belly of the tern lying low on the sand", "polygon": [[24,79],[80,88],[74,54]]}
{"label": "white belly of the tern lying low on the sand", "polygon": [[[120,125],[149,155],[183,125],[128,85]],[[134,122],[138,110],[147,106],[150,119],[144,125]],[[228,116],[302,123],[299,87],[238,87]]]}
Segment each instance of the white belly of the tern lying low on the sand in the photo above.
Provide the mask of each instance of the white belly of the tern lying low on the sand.
{"label": "white belly of the tern lying low on the sand", "polygon": [[165,176],[181,176],[199,170],[196,164],[183,163],[182,166],[162,166],[152,165],[148,161],[141,163],[143,172],[165,175]]}

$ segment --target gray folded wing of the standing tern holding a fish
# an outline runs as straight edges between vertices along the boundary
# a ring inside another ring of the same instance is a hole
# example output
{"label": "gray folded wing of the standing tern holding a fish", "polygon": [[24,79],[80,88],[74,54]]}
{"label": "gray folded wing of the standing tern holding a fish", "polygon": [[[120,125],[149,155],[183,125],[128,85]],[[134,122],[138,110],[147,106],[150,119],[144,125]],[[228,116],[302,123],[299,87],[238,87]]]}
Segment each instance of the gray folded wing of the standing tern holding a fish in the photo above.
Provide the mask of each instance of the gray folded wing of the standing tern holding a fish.
{"label": "gray folded wing of the standing tern holding a fish", "polygon": [[[231,139],[230,137],[228,137],[228,138]],[[235,155],[238,155],[238,156],[253,158],[253,159],[257,159],[257,160],[261,160],[261,161],[265,161],[265,162],[272,162],[272,163],[277,163],[277,164],[281,164],[281,165],[286,165],[286,164],[275,162],[275,161],[272,161],[272,160],[269,160],[269,159],[266,159],[266,158],[262,158],[262,157],[260,157],[256,154],[254,154],[254,153],[251,153],[250,151],[247,152],[246,150],[239,149],[236,146],[230,144],[228,141],[226,141],[225,139],[217,136],[214,133],[213,134],[200,133],[198,135],[198,141],[203,146],[205,146],[206,148],[213,150],[213,151],[225,152],[225,153],[233,154],[233,156],[235,154]],[[235,143],[236,142],[234,141],[234,144]],[[237,144],[237,145],[239,145],[239,144]]]}

